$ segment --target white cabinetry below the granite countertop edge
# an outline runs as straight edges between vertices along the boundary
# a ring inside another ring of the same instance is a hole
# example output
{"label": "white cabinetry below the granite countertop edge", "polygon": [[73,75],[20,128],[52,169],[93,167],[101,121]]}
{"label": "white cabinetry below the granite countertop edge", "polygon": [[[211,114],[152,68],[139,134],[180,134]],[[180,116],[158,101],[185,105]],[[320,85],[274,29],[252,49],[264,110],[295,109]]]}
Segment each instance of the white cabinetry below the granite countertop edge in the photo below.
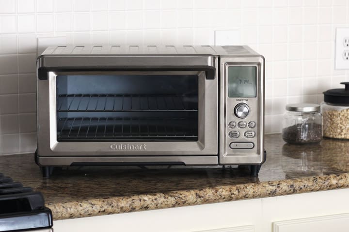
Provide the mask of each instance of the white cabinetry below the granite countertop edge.
{"label": "white cabinetry below the granite countertop edge", "polygon": [[101,229],[123,232],[342,232],[348,228],[349,188],[54,221],[54,232]]}

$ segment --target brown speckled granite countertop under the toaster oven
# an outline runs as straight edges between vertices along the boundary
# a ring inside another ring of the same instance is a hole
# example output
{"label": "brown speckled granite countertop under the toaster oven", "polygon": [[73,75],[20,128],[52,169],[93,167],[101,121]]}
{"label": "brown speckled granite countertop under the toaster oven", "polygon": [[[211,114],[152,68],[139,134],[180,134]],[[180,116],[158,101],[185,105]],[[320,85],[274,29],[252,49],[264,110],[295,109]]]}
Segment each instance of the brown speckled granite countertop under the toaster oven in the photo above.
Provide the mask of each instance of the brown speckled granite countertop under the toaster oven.
{"label": "brown speckled granite countertop under the toaster oven", "polygon": [[41,191],[55,220],[349,188],[349,141],[288,145],[274,134],[265,148],[259,177],[243,168],[71,167],[44,179],[32,154],[1,156],[0,172]]}

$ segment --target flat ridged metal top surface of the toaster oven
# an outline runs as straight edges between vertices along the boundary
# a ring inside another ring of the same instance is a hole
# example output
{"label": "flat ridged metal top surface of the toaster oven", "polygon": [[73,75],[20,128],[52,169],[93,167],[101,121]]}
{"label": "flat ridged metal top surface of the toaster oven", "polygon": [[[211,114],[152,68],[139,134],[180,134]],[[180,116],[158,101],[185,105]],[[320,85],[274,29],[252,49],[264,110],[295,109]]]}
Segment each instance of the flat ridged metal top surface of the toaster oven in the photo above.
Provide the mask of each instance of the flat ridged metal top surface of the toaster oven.
{"label": "flat ridged metal top surface of the toaster oven", "polygon": [[248,46],[68,45],[48,47],[42,55],[258,55]]}

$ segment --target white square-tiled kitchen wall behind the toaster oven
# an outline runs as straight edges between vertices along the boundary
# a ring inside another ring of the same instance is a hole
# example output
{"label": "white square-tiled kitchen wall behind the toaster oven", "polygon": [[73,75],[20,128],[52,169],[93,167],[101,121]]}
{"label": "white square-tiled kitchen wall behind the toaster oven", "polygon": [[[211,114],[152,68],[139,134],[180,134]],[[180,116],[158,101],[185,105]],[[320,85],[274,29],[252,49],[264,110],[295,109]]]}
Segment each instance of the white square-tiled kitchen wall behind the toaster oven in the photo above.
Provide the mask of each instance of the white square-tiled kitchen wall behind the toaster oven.
{"label": "white square-tiled kitchen wall behind the toaster oven", "polygon": [[348,81],[334,70],[336,27],[348,0],[0,0],[0,154],[36,148],[36,39],[67,43],[214,44],[238,29],[267,61],[266,132],[280,132],[289,102],[321,102]]}

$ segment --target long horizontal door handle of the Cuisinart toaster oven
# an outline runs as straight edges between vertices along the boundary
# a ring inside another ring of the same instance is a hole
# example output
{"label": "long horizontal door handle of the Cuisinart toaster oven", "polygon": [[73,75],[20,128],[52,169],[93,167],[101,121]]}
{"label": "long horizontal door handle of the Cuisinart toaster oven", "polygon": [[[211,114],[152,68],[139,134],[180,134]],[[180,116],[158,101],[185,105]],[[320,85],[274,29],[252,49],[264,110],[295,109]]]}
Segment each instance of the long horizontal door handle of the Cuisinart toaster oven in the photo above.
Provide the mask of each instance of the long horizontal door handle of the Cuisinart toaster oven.
{"label": "long horizontal door handle of the Cuisinart toaster oven", "polygon": [[206,79],[216,77],[216,58],[199,56],[78,56],[42,55],[36,62],[38,78],[48,72],[66,71],[204,71]]}

